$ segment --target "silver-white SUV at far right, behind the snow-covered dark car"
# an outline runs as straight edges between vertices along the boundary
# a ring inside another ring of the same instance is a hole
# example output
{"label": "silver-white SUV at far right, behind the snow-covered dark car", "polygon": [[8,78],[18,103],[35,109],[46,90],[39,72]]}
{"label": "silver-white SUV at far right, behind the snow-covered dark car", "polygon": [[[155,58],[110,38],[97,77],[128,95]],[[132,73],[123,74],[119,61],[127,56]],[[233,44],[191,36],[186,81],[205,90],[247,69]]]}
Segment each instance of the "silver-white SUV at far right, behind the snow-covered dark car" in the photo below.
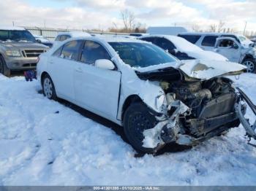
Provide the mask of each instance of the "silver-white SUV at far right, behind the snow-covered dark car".
{"label": "silver-white SUV at far right, behind the snow-covered dark car", "polygon": [[247,66],[248,72],[256,72],[255,43],[246,36],[226,33],[183,33],[178,36],[203,50],[218,52],[229,61]]}

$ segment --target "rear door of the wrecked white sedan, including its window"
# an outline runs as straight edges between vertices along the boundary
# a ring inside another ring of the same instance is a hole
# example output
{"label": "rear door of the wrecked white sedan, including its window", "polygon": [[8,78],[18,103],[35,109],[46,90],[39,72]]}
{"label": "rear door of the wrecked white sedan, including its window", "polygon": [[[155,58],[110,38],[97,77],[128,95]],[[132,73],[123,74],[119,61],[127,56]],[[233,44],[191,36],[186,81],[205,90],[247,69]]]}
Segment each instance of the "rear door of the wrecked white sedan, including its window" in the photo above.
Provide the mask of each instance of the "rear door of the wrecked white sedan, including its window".
{"label": "rear door of the wrecked white sedan, including its window", "polygon": [[74,40],[61,46],[50,57],[48,71],[59,97],[74,101],[73,71],[83,41]]}

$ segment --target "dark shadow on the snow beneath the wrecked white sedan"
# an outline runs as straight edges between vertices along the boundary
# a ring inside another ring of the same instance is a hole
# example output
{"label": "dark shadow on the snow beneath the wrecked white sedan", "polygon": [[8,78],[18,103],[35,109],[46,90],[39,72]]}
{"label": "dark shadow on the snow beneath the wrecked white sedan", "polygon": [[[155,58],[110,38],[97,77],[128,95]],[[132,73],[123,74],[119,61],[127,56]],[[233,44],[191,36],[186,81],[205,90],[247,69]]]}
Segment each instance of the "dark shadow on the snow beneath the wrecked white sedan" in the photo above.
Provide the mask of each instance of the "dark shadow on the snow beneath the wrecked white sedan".
{"label": "dark shadow on the snow beneath the wrecked white sedan", "polygon": [[[39,90],[38,93],[42,94],[42,90]],[[105,119],[104,117],[100,117],[97,114],[94,114],[92,112],[89,112],[86,109],[81,108],[80,106],[77,106],[75,104],[70,103],[69,101],[66,101],[64,99],[59,98],[58,102],[64,106],[69,107],[70,109],[74,110],[75,112],[78,112],[79,114],[83,115],[83,117],[87,117],[91,120],[94,120],[94,122],[97,122],[101,125],[104,125],[107,128],[110,128],[111,130],[115,131],[115,133],[121,137],[127,144],[129,144],[129,141],[127,140],[127,137],[124,134],[124,128],[122,128],[120,125],[117,125],[116,123]],[[165,147],[160,149],[154,156],[163,155],[168,152],[182,152],[186,149],[191,149],[191,147],[188,146],[181,146],[177,144],[166,144]],[[136,153],[135,157],[143,157],[145,154],[143,153]]]}

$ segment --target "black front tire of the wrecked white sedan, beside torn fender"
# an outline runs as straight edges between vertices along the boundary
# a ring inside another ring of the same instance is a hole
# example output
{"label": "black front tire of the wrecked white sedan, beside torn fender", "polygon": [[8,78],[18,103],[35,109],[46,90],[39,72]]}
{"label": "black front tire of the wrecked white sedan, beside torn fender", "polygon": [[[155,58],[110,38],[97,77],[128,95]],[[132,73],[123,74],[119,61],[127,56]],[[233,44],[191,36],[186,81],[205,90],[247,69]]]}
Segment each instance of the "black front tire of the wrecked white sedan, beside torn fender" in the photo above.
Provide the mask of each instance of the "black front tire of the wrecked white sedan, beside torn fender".
{"label": "black front tire of the wrecked white sedan, beside torn fender", "polygon": [[143,130],[154,128],[157,120],[141,102],[131,104],[124,112],[124,133],[129,143],[138,152],[154,153],[152,148],[143,147]]}

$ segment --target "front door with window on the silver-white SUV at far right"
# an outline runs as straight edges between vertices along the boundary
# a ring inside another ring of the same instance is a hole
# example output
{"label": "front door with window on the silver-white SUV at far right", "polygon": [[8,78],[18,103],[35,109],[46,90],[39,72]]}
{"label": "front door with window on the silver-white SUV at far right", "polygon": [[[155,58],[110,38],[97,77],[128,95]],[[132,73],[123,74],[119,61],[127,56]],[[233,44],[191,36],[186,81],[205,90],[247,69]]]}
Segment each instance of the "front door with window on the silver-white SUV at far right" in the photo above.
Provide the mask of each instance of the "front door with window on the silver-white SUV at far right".
{"label": "front door with window on the silver-white SUV at far right", "polygon": [[231,37],[218,38],[215,51],[224,55],[229,61],[239,63],[241,57],[241,46]]}

